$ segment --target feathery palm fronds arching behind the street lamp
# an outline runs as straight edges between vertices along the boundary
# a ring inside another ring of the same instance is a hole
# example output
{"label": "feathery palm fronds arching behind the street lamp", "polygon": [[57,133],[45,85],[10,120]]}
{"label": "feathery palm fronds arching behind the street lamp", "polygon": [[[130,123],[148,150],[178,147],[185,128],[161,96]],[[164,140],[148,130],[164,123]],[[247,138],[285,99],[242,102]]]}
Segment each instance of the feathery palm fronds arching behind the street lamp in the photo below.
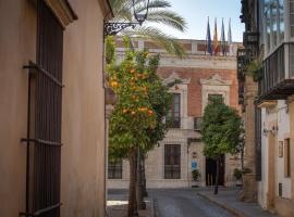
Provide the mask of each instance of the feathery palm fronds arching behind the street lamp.
{"label": "feathery palm fronds arching behind the street lamp", "polygon": [[[146,11],[144,0],[135,0],[135,9],[138,13]],[[114,18],[111,22],[135,22],[133,14],[133,0],[110,0]],[[146,24],[146,25],[145,25]],[[176,12],[171,10],[171,3],[166,0],[150,0],[149,13],[143,26],[126,28],[121,31],[122,35],[149,39],[169,53],[182,56],[184,50],[174,37],[163,33],[152,24],[162,24],[172,27],[179,31],[185,31],[186,22]]]}

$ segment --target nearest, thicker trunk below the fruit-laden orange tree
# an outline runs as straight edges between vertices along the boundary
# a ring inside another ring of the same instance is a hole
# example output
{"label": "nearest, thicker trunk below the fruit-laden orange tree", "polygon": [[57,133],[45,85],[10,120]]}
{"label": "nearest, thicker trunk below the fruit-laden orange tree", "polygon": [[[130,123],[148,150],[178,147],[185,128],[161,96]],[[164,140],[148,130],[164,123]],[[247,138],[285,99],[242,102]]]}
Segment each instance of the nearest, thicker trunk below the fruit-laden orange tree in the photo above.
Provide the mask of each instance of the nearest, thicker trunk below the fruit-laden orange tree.
{"label": "nearest, thicker trunk below the fruit-laden orange tree", "polygon": [[128,206],[127,217],[138,216],[137,200],[136,200],[136,150],[133,149],[128,152],[130,162],[130,189],[128,189]]}

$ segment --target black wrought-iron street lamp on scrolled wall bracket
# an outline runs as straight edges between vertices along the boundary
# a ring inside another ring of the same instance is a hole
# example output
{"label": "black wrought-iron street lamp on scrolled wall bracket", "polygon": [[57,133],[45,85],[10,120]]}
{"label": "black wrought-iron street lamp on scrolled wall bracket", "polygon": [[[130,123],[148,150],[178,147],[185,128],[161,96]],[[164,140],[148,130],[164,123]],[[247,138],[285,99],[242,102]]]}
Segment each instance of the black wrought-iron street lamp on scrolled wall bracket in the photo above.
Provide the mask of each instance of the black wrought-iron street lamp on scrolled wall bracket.
{"label": "black wrought-iron street lamp on scrolled wall bracket", "polygon": [[[139,1],[139,7],[135,7],[136,1]],[[149,0],[133,0],[133,11],[134,11],[134,17],[136,22],[131,22],[131,23],[117,23],[117,22],[111,22],[111,23],[105,23],[105,36],[115,36],[121,30],[132,27],[135,28],[136,25],[142,25],[147,16],[148,16],[148,11],[149,11]]]}

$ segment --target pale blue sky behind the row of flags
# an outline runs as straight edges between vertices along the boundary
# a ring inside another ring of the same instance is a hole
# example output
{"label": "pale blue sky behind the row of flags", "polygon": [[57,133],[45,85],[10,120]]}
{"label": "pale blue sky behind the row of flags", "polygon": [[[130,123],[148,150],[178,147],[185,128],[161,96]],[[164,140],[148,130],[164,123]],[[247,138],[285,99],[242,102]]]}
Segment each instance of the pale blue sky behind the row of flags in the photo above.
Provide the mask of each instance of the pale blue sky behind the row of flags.
{"label": "pale blue sky behind the row of flags", "polygon": [[[187,22],[186,33],[163,28],[166,33],[181,39],[206,39],[207,20],[210,20],[210,34],[213,39],[215,17],[218,21],[218,36],[220,38],[221,22],[223,18],[225,38],[228,37],[229,20],[231,17],[232,39],[241,42],[244,25],[240,21],[240,0],[169,0],[172,10],[176,11]],[[161,26],[162,28],[162,26]]]}

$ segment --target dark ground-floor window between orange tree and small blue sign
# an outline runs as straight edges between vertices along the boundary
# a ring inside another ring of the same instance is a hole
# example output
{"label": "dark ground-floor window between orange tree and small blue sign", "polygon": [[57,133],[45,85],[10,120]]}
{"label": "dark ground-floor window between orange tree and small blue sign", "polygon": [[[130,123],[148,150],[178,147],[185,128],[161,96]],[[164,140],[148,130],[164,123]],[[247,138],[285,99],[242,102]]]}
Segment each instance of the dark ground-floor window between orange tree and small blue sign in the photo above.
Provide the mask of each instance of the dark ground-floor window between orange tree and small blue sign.
{"label": "dark ground-floor window between orange tree and small blue sign", "polygon": [[164,179],[181,178],[181,145],[164,145]]}

